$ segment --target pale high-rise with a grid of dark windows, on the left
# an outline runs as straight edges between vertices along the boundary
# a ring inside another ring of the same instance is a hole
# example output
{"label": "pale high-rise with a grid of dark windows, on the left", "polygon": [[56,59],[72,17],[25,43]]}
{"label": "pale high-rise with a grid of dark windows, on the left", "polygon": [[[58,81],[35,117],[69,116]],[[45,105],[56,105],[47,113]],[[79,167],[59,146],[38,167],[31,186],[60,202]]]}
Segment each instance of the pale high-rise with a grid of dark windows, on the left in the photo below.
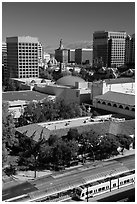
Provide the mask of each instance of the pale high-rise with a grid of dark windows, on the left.
{"label": "pale high-rise with a grid of dark windows, on the left", "polygon": [[38,39],[7,37],[7,69],[10,78],[39,77]]}

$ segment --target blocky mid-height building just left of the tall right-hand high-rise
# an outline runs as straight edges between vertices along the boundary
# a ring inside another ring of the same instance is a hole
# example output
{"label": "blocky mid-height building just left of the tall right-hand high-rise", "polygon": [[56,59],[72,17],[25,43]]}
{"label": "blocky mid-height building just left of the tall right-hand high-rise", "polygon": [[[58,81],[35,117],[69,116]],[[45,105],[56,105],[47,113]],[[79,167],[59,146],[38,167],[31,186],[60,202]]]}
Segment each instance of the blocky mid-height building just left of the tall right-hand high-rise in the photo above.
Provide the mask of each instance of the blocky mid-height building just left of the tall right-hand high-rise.
{"label": "blocky mid-height building just left of the tall right-hand high-rise", "polygon": [[76,64],[92,64],[93,49],[80,48],[75,50]]}

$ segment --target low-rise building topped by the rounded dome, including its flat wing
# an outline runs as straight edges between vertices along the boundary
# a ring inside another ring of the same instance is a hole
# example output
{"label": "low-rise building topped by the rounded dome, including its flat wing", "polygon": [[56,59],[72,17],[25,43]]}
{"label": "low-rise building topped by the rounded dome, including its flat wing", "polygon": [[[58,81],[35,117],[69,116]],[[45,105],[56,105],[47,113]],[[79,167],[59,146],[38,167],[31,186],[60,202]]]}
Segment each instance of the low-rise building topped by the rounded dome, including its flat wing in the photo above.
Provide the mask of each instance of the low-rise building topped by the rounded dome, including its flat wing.
{"label": "low-rise building topped by the rounded dome, including its flat wing", "polygon": [[60,78],[56,84],[36,84],[35,90],[56,96],[56,100],[64,100],[67,103],[90,102],[90,83],[80,77],[65,76]]}

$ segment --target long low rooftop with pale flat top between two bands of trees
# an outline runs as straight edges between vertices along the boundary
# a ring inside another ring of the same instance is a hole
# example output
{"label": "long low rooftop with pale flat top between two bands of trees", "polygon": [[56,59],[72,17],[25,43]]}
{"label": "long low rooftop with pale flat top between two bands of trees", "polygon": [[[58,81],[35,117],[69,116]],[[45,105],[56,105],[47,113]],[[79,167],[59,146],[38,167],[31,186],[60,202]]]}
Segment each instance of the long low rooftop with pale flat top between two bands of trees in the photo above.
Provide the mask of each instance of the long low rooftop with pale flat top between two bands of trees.
{"label": "long low rooftop with pale flat top between two bands of trees", "polygon": [[[19,127],[16,130],[21,134],[26,132],[28,137],[31,137],[33,133],[35,133],[34,140],[36,141],[38,141],[40,135],[45,139],[48,139],[51,134],[59,137],[65,136],[70,128],[76,128],[80,134],[83,132],[91,132],[92,134],[98,135],[105,135],[107,133],[114,135],[135,135],[135,120],[91,122],[89,118],[90,117],[83,117],[37,123]],[[84,121],[86,121],[86,123]]]}

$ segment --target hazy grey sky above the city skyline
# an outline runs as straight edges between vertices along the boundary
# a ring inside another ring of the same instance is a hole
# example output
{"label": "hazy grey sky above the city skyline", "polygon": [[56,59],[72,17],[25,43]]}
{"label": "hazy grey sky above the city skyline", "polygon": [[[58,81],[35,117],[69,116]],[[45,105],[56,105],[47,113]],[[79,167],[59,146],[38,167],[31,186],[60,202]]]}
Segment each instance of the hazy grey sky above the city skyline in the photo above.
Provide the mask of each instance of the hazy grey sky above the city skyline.
{"label": "hazy grey sky above the city skyline", "polygon": [[44,45],[92,41],[98,30],[135,33],[134,2],[5,2],[2,40],[38,37]]}

